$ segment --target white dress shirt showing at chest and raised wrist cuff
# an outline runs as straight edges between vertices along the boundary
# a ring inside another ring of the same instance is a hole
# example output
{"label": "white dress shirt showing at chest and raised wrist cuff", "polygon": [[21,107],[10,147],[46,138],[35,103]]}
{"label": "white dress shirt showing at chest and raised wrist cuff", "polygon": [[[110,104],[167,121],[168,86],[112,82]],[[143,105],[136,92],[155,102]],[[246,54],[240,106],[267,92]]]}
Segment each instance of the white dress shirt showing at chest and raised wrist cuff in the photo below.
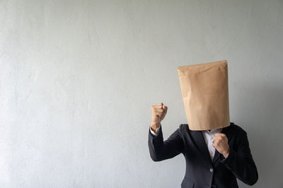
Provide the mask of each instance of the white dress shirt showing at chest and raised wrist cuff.
{"label": "white dress shirt showing at chest and raised wrist cuff", "polygon": [[[156,129],[156,133],[153,130],[151,130],[151,128],[150,128],[151,134],[153,134],[154,136],[157,136],[159,131],[160,131],[160,127],[158,127]],[[212,146],[212,141],[213,141],[212,138],[215,136],[216,133],[221,133],[221,131],[222,131],[222,128],[212,129],[210,131],[208,131],[208,130],[202,131],[202,135],[204,136],[204,141],[205,141],[205,143],[207,143],[209,155],[210,155],[210,158],[212,160],[213,160],[214,154],[215,154],[215,148]],[[223,155],[223,156],[224,156],[224,158],[226,158],[225,155]]]}

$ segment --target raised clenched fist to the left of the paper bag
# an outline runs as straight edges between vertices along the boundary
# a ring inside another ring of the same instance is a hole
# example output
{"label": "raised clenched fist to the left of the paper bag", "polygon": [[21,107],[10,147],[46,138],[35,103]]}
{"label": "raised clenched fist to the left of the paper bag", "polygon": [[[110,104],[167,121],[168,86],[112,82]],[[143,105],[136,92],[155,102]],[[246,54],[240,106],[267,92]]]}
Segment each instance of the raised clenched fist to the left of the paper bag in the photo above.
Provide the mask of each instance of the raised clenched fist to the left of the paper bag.
{"label": "raised clenched fist to the left of the paper bag", "polygon": [[155,132],[161,125],[161,121],[164,119],[167,113],[167,107],[163,103],[151,106],[151,129]]}

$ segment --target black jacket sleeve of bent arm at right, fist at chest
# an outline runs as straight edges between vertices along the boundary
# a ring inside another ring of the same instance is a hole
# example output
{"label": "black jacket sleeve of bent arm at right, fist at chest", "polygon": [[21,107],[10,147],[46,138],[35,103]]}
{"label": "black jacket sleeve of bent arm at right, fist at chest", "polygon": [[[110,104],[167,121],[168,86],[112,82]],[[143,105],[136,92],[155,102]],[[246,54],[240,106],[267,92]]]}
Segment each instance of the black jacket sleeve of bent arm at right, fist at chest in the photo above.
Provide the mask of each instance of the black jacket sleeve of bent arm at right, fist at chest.
{"label": "black jacket sleeve of bent arm at right, fist at chest", "polygon": [[226,168],[241,180],[243,183],[253,185],[258,181],[258,170],[250,153],[248,136],[246,131],[241,131],[238,135],[237,151],[230,148],[227,158],[220,156],[220,161]]}

